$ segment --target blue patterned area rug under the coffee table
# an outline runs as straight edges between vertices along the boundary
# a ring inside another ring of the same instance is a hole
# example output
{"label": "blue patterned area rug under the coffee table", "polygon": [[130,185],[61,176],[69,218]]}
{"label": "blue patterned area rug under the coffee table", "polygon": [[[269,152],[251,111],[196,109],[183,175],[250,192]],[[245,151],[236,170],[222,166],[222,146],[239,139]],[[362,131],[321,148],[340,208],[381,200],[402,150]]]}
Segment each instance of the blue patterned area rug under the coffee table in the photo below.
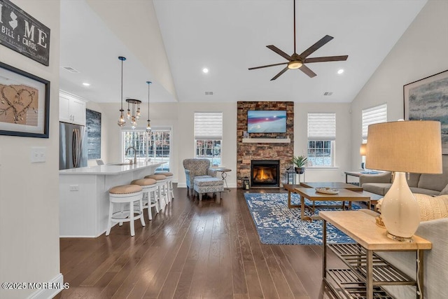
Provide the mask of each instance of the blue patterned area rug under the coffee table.
{"label": "blue patterned area rug under the coffee table", "polygon": [[[262,244],[322,244],[322,221],[301,221],[300,208],[288,209],[288,193],[245,193],[244,197]],[[291,194],[291,203],[300,204],[299,195]],[[308,200],[305,203],[312,204]],[[328,205],[340,203],[316,202]],[[352,209],[360,207],[352,203]],[[316,208],[314,216],[322,210],[334,209]],[[309,209],[305,209],[305,215],[313,216]],[[330,224],[327,225],[327,242],[354,243],[353,239]]]}

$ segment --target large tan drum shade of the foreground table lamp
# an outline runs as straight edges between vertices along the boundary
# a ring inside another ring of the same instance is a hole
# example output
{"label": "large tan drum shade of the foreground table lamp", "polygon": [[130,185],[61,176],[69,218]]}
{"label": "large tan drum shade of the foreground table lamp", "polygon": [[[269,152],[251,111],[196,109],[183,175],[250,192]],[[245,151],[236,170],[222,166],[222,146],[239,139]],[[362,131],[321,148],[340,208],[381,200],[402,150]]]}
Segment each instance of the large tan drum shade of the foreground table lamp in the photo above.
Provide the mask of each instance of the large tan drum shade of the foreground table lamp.
{"label": "large tan drum shade of the foreground table lamp", "polygon": [[391,172],[441,174],[440,122],[405,120],[370,125],[365,165]]}

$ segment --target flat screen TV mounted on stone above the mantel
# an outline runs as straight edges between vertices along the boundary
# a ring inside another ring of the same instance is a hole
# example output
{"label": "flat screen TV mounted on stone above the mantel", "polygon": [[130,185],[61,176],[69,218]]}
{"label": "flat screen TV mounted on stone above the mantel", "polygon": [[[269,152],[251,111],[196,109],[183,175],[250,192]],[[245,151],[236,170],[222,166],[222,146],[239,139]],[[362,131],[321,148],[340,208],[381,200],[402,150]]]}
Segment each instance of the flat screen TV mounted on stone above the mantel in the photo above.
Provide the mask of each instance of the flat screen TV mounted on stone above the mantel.
{"label": "flat screen TV mounted on stone above the mantel", "polygon": [[286,133],[286,111],[247,111],[248,133]]}

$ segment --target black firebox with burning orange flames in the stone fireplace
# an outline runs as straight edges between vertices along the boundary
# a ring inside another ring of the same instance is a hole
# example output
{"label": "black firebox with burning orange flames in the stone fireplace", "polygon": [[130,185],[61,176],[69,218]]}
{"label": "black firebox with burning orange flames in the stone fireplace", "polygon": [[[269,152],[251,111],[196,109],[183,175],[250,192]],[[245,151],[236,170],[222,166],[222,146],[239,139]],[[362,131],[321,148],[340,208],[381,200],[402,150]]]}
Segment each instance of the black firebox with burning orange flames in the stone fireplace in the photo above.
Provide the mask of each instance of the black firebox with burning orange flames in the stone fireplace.
{"label": "black firebox with burning orange flames in the stone fireplace", "polygon": [[279,160],[252,160],[252,187],[279,187]]}

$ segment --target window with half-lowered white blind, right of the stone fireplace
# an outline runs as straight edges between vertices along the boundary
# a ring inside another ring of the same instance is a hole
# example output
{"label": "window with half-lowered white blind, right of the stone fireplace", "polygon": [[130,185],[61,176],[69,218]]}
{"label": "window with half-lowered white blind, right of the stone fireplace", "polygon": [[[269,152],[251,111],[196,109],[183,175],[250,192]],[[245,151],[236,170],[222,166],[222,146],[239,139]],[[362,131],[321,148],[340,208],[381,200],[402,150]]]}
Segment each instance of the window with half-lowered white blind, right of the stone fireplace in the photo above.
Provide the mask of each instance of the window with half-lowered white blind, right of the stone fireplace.
{"label": "window with half-lowered white blind, right of the stone fireplace", "polygon": [[308,113],[308,160],[312,166],[335,165],[336,113]]}

